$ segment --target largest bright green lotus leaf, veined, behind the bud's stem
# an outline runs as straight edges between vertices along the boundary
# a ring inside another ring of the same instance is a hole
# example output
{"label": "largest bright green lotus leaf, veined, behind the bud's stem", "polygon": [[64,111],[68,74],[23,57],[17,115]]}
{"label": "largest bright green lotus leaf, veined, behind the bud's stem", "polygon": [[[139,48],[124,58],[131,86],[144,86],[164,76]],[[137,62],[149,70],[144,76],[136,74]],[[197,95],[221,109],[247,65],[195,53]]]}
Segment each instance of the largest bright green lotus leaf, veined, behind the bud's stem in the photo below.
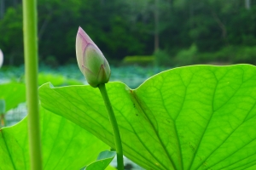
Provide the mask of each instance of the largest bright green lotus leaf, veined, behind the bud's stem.
{"label": "largest bright green lotus leaf, veined, behind the bud's stem", "polygon": [[[107,84],[125,156],[147,169],[246,169],[256,164],[256,68],[195,65],[131,90]],[[42,105],[114,148],[97,88],[39,88]]]}

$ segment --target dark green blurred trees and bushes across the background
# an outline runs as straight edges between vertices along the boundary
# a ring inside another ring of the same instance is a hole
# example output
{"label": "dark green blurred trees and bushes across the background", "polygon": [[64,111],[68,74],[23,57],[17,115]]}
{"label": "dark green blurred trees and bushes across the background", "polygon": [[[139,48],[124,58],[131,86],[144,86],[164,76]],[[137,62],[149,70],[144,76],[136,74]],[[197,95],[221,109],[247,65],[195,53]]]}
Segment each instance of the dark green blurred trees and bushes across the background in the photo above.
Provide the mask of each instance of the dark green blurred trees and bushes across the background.
{"label": "dark green blurred trees and bushes across the background", "polygon": [[[24,62],[21,3],[0,0],[4,65]],[[79,26],[114,65],[256,64],[253,0],[38,0],[39,61],[76,63]]]}

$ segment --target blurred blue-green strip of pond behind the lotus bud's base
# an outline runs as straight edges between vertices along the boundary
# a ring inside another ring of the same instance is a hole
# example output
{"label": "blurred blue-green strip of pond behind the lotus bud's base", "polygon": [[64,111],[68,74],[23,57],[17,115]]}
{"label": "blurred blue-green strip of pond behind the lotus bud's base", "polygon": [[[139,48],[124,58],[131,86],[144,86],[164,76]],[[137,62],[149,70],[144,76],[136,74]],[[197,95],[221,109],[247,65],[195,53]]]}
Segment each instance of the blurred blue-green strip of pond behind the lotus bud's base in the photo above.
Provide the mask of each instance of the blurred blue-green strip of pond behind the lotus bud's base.
{"label": "blurred blue-green strip of pond behind the lotus bud's base", "polygon": [[[125,82],[130,88],[137,88],[148,77],[160,71],[165,71],[165,67],[147,66],[142,67],[138,65],[129,65],[122,67],[111,66],[110,82]],[[78,65],[65,65],[56,68],[51,68],[46,65],[39,67],[39,75],[47,74],[52,76],[63,77],[66,79],[74,79],[79,82],[87,84],[84,76],[79,71]],[[2,68],[0,70],[0,83],[3,82],[24,82],[24,66]],[[46,82],[47,80],[45,80]],[[50,80],[49,80],[50,81]]]}

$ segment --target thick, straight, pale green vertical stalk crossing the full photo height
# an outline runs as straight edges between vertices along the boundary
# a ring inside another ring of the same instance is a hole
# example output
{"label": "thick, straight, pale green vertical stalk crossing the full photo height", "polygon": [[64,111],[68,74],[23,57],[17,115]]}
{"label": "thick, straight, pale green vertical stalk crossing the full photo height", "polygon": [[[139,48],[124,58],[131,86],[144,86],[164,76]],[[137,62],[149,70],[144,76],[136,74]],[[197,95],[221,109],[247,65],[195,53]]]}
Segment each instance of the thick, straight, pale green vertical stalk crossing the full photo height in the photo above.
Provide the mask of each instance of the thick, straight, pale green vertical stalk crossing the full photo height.
{"label": "thick, straight, pale green vertical stalk crossing the full photo height", "polygon": [[38,109],[38,27],[36,0],[23,0],[23,31],[30,168],[42,169]]}

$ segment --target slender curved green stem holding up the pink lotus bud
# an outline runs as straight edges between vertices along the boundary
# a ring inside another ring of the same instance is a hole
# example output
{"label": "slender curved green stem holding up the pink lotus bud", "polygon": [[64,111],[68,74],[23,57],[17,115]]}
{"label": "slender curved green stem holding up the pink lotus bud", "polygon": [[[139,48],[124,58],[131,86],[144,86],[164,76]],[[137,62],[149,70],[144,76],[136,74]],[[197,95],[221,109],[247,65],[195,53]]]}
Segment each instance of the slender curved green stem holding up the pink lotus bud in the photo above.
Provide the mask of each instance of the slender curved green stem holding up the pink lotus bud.
{"label": "slender curved green stem holding up the pink lotus bud", "polygon": [[113,139],[116,147],[116,154],[117,154],[117,162],[118,162],[118,170],[124,170],[124,160],[123,160],[123,149],[122,149],[122,143],[121,143],[121,138],[120,138],[120,133],[119,133],[119,127],[116,122],[112,105],[110,103],[110,100],[108,98],[108,93],[105,87],[105,84],[100,84],[98,88],[101,91],[102,98],[105,102],[106,108],[108,110],[108,116],[109,116],[109,121],[112,125],[113,128]]}

